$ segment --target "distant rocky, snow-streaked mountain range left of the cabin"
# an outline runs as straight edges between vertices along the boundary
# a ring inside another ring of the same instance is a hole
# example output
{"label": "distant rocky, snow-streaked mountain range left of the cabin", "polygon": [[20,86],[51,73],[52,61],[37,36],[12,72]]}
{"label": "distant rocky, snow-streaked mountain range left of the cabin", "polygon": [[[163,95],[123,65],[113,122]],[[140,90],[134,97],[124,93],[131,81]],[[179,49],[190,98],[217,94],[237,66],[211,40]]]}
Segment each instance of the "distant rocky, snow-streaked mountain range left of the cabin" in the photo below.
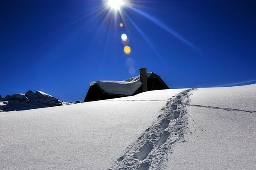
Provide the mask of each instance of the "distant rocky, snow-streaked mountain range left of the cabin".
{"label": "distant rocky, snow-streaked mountain range left of the cabin", "polygon": [[22,111],[68,104],[70,103],[63,102],[42,91],[36,91],[35,93],[28,91],[26,94],[14,94],[5,98],[0,96],[0,112]]}

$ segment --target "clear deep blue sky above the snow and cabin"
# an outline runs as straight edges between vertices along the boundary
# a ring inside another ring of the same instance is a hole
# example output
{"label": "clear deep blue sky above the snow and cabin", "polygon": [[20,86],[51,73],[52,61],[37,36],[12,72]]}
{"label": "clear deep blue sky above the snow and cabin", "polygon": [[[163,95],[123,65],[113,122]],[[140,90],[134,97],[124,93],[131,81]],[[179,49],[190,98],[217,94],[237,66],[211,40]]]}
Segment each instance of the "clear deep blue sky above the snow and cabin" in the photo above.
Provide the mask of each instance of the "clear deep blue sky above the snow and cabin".
{"label": "clear deep blue sky above the snow and cabin", "polygon": [[256,82],[255,0],[130,0],[123,19],[104,3],[1,0],[0,95],[41,90],[82,101],[91,81],[142,67],[170,88]]}

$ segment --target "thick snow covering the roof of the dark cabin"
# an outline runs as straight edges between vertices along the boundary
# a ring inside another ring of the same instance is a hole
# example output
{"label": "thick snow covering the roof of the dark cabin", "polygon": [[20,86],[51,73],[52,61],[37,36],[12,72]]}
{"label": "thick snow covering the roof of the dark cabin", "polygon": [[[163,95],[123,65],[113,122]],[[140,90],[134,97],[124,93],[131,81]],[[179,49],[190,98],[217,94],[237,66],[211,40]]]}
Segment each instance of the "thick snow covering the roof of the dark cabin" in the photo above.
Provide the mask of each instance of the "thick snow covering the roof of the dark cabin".
{"label": "thick snow covering the roof of the dark cabin", "polygon": [[[152,73],[147,73],[149,77]],[[90,82],[90,86],[98,84],[99,87],[108,94],[122,94],[130,96],[137,91],[142,85],[140,82],[140,76],[132,77],[124,81],[95,81]]]}

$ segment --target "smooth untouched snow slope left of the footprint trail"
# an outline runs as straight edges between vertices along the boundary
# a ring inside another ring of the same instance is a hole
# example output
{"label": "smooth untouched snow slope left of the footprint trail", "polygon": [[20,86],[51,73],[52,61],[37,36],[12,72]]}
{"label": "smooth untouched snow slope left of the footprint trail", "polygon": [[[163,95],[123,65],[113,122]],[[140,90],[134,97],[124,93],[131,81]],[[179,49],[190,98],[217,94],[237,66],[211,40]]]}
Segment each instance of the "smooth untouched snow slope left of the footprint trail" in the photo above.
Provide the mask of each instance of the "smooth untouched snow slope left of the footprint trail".
{"label": "smooth untouched snow slope left of the footprint trail", "polygon": [[106,169],[181,91],[0,113],[0,169]]}

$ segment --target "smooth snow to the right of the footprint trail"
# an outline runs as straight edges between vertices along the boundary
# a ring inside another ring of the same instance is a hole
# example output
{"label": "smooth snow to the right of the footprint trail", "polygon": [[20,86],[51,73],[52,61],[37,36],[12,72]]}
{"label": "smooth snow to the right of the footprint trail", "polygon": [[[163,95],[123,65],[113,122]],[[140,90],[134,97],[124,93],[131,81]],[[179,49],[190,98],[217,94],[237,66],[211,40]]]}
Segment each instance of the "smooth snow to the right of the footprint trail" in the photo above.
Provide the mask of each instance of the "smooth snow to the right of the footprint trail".
{"label": "smooth snow to the right of the footprint trail", "polygon": [[186,142],[172,148],[167,169],[255,170],[256,84],[200,88],[190,99]]}

